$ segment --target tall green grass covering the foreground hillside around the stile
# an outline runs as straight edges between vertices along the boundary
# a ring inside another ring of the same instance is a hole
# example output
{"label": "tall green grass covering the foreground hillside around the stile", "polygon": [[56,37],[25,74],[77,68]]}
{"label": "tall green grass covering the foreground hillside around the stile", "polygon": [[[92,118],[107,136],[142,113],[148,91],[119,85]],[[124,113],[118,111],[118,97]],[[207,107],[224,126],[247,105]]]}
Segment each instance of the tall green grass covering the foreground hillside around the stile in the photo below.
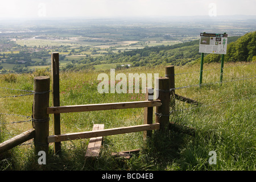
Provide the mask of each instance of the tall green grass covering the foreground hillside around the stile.
{"label": "tall green grass covering the foreground hillside around the stile", "polygon": [[[238,77],[253,77],[255,64],[233,67],[244,63],[227,63],[224,81]],[[205,64],[203,82],[216,82],[220,77],[219,64]],[[177,87],[199,84],[200,65],[175,67],[175,73],[192,72],[175,76]],[[213,69],[217,68],[217,69]],[[100,94],[97,92],[99,73],[60,73],[60,105],[78,105],[107,102],[144,100],[142,94]],[[159,73],[164,76],[164,66],[130,68],[116,74]],[[7,88],[32,88],[29,75],[16,76],[15,82],[7,82],[1,76],[0,86]],[[14,90],[0,90],[1,96],[20,94]],[[143,140],[142,132],[104,137],[103,147],[97,159],[85,159],[89,139],[62,142],[61,155],[54,155],[50,145],[47,165],[40,166],[32,144],[18,146],[0,155],[1,170],[255,170],[255,78],[220,84],[176,89],[176,94],[193,98],[199,106],[176,100],[175,111],[170,115],[174,123],[163,135],[154,131],[152,138]],[[248,97],[248,98],[247,98]],[[252,97],[252,98],[250,98]],[[241,98],[247,98],[240,100]],[[31,115],[32,96],[0,98],[0,113]],[[190,108],[190,109],[189,109]],[[1,123],[24,119],[13,115],[1,115]],[[105,129],[141,125],[143,109],[92,111],[61,114],[61,133],[92,130],[94,123]],[[52,134],[52,119],[50,135]],[[0,125],[0,142],[28,129],[29,122]],[[190,130],[192,128],[193,130]],[[189,133],[191,131],[191,133]],[[31,141],[27,142],[31,143]],[[117,158],[112,152],[140,148],[139,154],[130,159]],[[216,151],[217,164],[210,165],[209,151]]]}

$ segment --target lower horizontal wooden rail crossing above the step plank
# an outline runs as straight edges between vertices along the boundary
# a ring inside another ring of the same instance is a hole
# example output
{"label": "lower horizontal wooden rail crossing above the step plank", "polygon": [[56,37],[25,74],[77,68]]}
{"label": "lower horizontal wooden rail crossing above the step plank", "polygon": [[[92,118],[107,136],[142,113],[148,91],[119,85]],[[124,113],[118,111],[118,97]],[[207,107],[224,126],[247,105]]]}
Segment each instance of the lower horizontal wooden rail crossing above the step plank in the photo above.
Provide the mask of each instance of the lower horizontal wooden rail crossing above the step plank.
{"label": "lower horizontal wooden rail crossing above the step plank", "polygon": [[138,131],[147,131],[147,130],[159,130],[160,124],[146,124],[146,125],[137,125],[137,126],[128,126],[128,127],[118,127],[114,129],[105,129],[98,131],[84,131],[80,133],[70,133],[70,134],[61,134],[61,135],[51,135],[48,137],[48,143],[53,142],[63,142],[67,140],[83,139],[83,138],[93,138],[93,137],[104,137],[109,135],[118,135],[125,133],[133,133]]}

